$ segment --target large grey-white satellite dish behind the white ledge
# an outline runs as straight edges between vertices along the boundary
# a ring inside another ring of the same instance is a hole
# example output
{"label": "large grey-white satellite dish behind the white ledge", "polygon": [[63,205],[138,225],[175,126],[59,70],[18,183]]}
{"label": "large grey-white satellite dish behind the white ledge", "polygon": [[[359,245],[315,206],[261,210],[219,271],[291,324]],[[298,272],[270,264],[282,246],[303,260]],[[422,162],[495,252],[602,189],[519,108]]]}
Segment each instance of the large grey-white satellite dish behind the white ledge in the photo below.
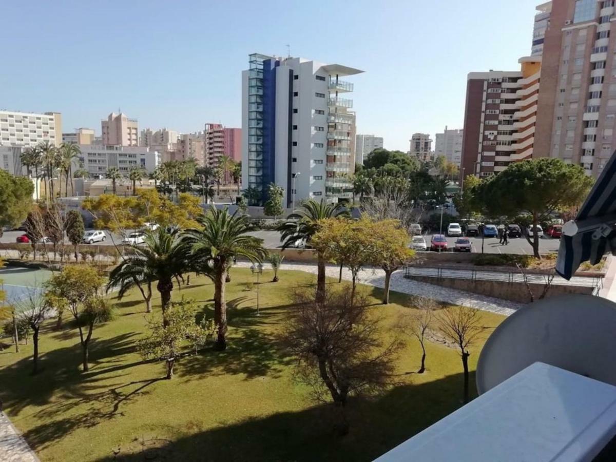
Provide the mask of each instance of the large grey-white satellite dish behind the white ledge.
{"label": "large grey-white satellite dish behind the white ledge", "polygon": [[537,361],[616,386],[616,303],[574,294],[517,310],[485,342],[477,391],[483,394]]}

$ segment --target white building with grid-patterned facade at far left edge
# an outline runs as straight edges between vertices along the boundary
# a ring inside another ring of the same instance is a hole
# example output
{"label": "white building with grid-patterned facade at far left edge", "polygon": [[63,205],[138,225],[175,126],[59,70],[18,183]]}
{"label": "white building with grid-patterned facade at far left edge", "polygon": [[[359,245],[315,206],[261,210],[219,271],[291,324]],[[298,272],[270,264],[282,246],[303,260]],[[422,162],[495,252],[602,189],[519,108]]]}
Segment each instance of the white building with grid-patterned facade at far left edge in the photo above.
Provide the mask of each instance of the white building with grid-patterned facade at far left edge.
{"label": "white building with grid-patterned facade at far left edge", "polygon": [[62,143],[62,115],[0,110],[0,146],[33,147],[49,141]]}

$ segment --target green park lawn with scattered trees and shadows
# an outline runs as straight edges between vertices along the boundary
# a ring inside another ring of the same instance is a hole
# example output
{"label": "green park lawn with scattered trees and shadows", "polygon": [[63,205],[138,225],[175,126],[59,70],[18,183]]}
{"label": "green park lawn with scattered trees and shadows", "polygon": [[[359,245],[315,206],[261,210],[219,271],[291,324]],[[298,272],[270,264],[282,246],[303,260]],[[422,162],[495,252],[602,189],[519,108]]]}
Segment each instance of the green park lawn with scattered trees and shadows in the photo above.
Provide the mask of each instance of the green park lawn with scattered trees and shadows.
{"label": "green park lawn with scattered trees and shadows", "polygon": [[[410,341],[399,360],[400,383],[381,397],[352,400],[351,432],[335,436],[331,407],[312,401],[309,389],[293,381],[293,358],[274,335],[290,309],[289,288],[315,277],[282,271],[280,282],[270,283],[266,270],[256,317],[256,286],[244,290],[252,280],[249,270],[231,274],[229,348],[182,359],[171,381],[161,380],[163,364],[144,363],[135,351],[146,326],[137,294],[118,304],[113,322],[95,330],[89,373],[79,372],[78,333],[68,324],[42,334],[44,371],[37,376],[30,375],[30,345],[18,354],[13,348],[0,352],[0,399],[41,460],[114,460],[116,452],[118,460],[137,461],[146,451],[148,458],[166,461],[368,461],[460,407],[458,353],[429,344],[428,370],[409,374],[420,358],[418,344]],[[373,291],[373,310],[389,335],[397,314],[411,309],[407,296],[393,293],[392,304],[379,306],[381,291],[363,289]],[[192,286],[174,290],[174,299],[181,294],[211,315],[209,280],[193,278]],[[491,328],[503,320],[488,313],[482,318]],[[472,370],[481,347],[471,349]]]}

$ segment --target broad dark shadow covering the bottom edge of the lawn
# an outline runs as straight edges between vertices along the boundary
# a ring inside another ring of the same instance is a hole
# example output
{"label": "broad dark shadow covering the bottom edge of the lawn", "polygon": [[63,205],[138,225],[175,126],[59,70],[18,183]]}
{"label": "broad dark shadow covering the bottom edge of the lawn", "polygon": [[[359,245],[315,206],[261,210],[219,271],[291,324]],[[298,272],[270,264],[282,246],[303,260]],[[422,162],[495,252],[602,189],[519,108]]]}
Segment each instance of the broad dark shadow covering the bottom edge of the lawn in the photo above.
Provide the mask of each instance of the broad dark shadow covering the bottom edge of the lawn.
{"label": "broad dark shadow covering the bottom edge of the lawn", "polygon": [[[276,413],[198,432],[148,448],[136,440],[99,460],[111,461],[370,461],[399,445],[462,405],[461,374],[429,383],[396,386],[380,397],[351,399],[351,424],[345,437],[333,431],[334,409],[317,405],[298,412]],[[474,375],[471,375],[474,383]],[[132,437],[132,435],[129,435]]]}

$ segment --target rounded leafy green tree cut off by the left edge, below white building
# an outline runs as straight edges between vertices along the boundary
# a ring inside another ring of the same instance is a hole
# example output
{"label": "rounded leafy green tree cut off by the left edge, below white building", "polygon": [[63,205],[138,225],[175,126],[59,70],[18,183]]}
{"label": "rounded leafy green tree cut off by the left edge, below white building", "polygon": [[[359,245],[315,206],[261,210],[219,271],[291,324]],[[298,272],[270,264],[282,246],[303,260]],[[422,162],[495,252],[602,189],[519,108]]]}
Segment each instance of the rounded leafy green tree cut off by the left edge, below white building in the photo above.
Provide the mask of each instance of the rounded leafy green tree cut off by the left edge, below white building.
{"label": "rounded leafy green tree cut off by the left edge, below white building", "polygon": [[34,185],[26,177],[0,170],[0,229],[22,224],[32,208]]}

